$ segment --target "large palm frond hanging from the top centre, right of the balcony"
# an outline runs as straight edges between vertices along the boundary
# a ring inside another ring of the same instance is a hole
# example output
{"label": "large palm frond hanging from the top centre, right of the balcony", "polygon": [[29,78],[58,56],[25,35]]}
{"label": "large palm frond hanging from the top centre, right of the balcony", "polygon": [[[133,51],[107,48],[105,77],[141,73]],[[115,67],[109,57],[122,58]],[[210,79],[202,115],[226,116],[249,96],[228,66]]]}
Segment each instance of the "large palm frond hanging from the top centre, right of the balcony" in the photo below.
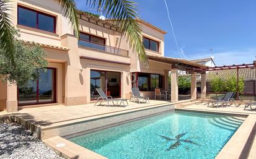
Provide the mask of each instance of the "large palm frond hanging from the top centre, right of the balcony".
{"label": "large palm frond hanging from the top centre, right of the balcony", "polygon": [[142,64],[148,65],[147,54],[142,41],[142,30],[137,22],[136,2],[127,0],[87,0],[92,7],[102,9],[112,24],[117,25],[137,53]]}

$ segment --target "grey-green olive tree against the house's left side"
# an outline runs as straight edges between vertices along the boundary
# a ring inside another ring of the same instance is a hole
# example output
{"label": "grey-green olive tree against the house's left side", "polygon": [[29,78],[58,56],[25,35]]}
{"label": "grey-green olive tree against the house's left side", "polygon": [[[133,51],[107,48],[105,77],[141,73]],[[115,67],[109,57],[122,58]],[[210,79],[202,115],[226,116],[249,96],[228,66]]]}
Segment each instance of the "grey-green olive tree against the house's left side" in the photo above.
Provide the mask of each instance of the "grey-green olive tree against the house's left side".
{"label": "grey-green olive tree against the house's left side", "polygon": [[14,41],[15,66],[9,63],[9,58],[0,48],[0,76],[10,84],[24,86],[29,80],[37,79],[40,69],[48,66],[45,51],[39,45],[26,45],[23,41]]}

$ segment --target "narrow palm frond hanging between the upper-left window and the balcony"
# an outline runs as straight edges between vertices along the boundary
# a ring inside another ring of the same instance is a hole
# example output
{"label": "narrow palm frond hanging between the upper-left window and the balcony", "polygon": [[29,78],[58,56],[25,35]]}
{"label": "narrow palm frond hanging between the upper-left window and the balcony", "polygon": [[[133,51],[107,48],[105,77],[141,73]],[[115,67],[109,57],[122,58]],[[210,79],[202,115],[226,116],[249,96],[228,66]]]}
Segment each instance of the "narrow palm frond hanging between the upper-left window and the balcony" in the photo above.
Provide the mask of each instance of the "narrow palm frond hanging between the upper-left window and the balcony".
{"label": "narrow palm frond hanging between the upper-left window and the balcony", "polygon": [[79,22],[78,22],[78,9],[75,0],[55,0],[60,4],[60,7],[72,24],[75,36],[79,38]]}

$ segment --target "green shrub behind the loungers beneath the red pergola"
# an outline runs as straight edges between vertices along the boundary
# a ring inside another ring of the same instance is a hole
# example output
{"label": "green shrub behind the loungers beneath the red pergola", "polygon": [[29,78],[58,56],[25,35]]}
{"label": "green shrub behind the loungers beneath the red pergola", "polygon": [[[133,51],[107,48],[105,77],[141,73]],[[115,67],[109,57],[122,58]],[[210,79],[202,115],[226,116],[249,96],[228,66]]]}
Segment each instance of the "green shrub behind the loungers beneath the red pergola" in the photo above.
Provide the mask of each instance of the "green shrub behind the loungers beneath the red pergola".
{"label": "green shrub behind the loungers beneath the red pergola", "polygon": [[[239,93],[244,91],[244,78],[240,77],[238,82]],[[225,80],[225,91],[226,92],[237,92],[237,77],[231,76]]]}

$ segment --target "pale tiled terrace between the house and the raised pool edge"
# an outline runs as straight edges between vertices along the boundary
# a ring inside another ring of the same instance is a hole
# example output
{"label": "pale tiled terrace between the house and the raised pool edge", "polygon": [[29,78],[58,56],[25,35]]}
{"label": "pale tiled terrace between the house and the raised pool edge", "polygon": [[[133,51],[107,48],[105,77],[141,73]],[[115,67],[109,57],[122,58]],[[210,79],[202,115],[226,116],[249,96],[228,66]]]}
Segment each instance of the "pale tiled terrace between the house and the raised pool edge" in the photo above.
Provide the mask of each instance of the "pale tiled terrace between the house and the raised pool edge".
{"label": "pale tiled terrace between the house and the raised pool edge", "polygon": [[[105,105],[103,102],[102,105]],[[40,127],[57,126],[83,120],[86,118],[99,118],[116,113],[124,113],[134,110],[146,109],[153,106],[161,106],[170,104],[170,101],[150,100],[149,103],[134,103],[129,101],[129,106],[94,106],[94,103],[88,105],[64,106],[64,105],[49,105],[42,107],[27,107],[19,110],[17,113],[0,112],[4,116],[6,114],[13,114],[19,116],[31,124]]]}

